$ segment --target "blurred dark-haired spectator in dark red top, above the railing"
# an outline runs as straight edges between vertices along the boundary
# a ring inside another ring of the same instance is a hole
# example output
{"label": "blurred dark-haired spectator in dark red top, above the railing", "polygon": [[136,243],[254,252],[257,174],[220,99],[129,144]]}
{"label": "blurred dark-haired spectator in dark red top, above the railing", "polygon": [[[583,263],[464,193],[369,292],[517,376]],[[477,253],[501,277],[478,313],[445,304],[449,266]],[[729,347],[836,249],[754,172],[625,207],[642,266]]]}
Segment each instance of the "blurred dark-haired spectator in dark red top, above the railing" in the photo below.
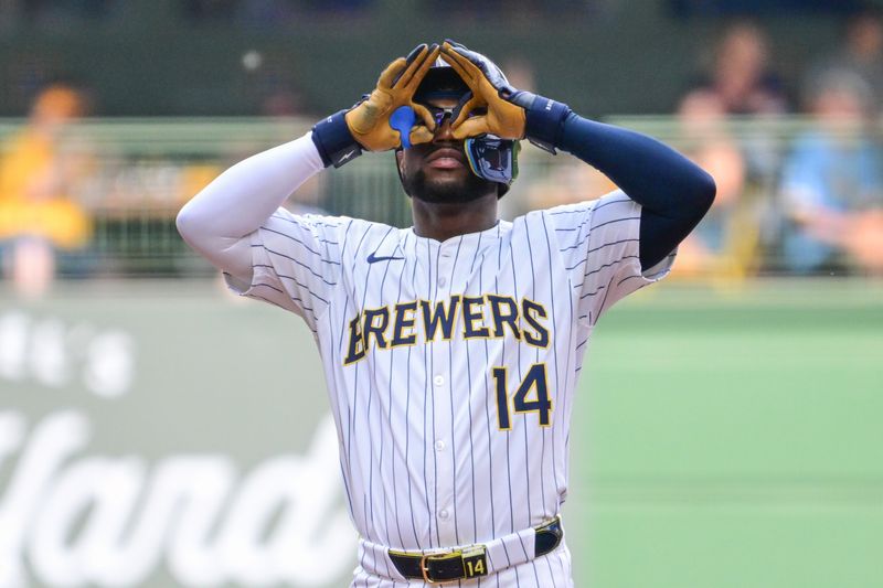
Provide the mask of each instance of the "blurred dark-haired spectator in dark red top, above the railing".
{"label": "blurred dark-haired spectator in dark red top, above the railing", "polygon": [[781,81],[769,68],[766,36],[748,22],[736,22],[724,32],[709,73],[684,99],[695,93],[716,96],[730,115],[779,114],[788,107]]}

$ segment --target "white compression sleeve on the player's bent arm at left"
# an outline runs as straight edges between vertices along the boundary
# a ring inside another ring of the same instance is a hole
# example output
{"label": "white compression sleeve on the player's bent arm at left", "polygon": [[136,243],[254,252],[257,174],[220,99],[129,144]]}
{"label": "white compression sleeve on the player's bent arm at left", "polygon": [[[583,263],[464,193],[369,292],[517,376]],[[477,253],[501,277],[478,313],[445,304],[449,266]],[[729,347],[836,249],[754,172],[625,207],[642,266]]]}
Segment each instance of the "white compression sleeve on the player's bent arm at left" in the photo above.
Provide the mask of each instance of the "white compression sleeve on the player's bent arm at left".
{"label": "white compression sleeve on the player's bent arm at left", "polygon": [[310,132],[252,156],[219,175],[181,209],[178,231],[212,265],[251,282],[248,235],[323,168]]}

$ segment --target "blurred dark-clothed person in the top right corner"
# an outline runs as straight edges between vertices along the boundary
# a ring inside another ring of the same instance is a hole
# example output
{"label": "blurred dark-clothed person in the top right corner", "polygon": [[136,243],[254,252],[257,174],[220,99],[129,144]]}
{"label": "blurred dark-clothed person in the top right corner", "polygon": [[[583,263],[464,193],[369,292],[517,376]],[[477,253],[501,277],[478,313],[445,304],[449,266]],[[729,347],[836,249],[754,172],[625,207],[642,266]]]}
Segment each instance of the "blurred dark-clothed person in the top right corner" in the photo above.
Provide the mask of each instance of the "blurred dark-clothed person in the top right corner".
{"label": "blurred dark-clothed person in the top right corner", "polygon": [[829,72],[849,72],[864,81],[874,97],[874,109],[883,100],[883,19],[879,11],[863,11],[848,20],[843,44],[809,70],[805,85],[811,86]]}

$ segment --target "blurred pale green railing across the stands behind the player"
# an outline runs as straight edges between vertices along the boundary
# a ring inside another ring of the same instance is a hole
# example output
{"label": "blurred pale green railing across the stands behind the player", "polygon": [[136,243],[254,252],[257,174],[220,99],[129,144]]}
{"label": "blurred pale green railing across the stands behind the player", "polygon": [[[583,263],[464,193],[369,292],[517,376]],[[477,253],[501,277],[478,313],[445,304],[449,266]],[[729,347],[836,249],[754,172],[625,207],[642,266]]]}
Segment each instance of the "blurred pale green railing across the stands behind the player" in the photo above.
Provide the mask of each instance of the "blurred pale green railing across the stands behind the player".
{"label": "blurred pale green railing across the stands behind the player", "polygon": [[[866,125],[821,127],[807,118],[611,121],[658,137],[715,177],[717,201],[681,247],[680,275],[883,269],[883,157],[879,133]],[[209,274],[211,268],[178,236],[177,211],[226,167],[300,136],[311,122],[127,119],[65,128],[55,149],[75,164],[58,196],[84,210],[92,226],[84,246],[60,249],[58,275]],[[23,129],[23,121],[0,121],[6,157]],[[550,157],[526,141],[520,169],[501,201],[504,217],[614,189],[591,167],[566,154]],[[0,194],[0,204],[9,196]],[[319,174],[289,204],[397,226],[407,226],[411,218],[392,153],[366,154]],[[0,242],[9,243],[14,231],[7,226],[3,232]]]}

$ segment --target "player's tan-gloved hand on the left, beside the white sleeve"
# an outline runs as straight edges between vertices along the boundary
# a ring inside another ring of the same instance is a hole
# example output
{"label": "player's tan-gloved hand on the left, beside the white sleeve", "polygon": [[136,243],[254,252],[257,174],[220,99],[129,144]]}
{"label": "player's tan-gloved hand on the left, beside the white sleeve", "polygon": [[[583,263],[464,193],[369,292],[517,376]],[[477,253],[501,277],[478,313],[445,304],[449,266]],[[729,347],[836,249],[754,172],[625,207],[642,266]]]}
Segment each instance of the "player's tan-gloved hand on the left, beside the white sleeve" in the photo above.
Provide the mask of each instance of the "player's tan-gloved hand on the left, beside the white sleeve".
{"label": "player's tan-gloved hand on the left, beside the white sleeve", "polygon": [[[437,44],[427,46],[423,43],[407,57],[392,62],[380,75],[374,90],[345,114],[347,126],[362,147],[369,151],[386,151],[401,147],[403,142],[407,146],[408,142],[417,145],[433,140],[435,119],[426,107],[414,103],[414,92],[439,51]],[[401,131],[390,125],[390,118],[403,106],[411,107],[425,125],[412,126],[405,141],[402,141]]]}

